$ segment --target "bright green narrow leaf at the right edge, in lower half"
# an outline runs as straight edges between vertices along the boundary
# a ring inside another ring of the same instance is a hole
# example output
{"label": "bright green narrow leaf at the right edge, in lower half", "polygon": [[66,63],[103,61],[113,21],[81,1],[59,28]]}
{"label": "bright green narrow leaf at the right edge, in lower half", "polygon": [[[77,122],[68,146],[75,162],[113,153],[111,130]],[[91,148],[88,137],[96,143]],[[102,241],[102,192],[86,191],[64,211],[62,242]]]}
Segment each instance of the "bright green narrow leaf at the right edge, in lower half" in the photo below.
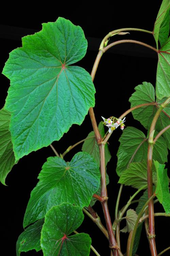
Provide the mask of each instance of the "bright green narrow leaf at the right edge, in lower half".
{"label": "bright green narrow leaf at the right edge, in lower half", "polygon": [[155,194],[159,199],[159,202],[163,205],[165,212],[170,213],[170,193],[167,169],[164,169],[165,164],[160,164],[158,161],[154,161],[154,164],[157,172],[157,186]]}

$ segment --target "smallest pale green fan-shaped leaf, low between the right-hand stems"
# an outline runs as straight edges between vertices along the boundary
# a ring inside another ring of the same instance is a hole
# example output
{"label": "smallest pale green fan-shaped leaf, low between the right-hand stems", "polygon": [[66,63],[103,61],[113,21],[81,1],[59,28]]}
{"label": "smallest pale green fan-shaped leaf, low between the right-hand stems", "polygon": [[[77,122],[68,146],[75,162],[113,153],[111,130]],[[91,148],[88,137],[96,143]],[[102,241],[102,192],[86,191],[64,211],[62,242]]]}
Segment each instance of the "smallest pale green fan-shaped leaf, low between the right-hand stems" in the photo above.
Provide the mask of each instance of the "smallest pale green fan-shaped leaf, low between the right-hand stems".
{"label": "smallest pale green fan-shaped leaf, low between the right-hand stems", "polygon": [[138,215],[136,214],[136,211],[133,209],[129,209],[126,212],[126,226],[121,229],[120,231],[126,233],[130,232],[134,229],[135,223],[137,221]]}

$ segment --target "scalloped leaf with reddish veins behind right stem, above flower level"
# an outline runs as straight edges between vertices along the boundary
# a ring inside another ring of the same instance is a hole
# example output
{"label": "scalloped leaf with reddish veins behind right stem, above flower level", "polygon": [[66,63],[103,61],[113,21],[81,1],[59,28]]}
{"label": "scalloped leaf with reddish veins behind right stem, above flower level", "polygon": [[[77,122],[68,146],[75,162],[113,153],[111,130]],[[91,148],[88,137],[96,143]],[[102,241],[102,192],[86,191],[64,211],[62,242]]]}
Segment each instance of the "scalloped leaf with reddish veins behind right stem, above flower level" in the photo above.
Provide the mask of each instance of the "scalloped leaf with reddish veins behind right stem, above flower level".
{"label": "scalloped leaf with reddish veins behind right stem, above flower level", "polygon": [[[131,108],[144,103],[155,103],[155,105],[144,106],[132,111],[133,117],[138,120],[147,130],[150,129],[152,120],[160,104],[162,104],[166,98],[162,100],[156,99],[155,101],[155,89],[151,83],[143,82],[135,87],[135,92],[130,97]],[[156,122],[155,130],[161,131],[169,124],[170,120],[170,107],[164,108],[160,113]],[[167,130],[163,134],[164,139],[170,147],[170,130]]]}

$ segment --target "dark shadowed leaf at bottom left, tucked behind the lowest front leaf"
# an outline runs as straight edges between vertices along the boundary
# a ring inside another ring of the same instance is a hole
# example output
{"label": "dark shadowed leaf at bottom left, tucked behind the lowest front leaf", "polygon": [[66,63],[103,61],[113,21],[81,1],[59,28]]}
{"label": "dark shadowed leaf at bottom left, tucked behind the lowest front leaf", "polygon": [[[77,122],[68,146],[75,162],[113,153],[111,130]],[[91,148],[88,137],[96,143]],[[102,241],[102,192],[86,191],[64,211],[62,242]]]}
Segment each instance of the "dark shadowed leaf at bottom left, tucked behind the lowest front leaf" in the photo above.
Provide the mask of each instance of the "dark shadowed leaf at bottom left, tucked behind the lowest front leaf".
{"label": "dark shadowed leaf at bottom left, tucked behind the lowest front leaf", "polygon": [[38,220],[22,232],[16,244],[17,256],[19,256],[21,252],[28,252],[33,249],[37,252],[41,250],[40,238],[43,224],[44,219]]}

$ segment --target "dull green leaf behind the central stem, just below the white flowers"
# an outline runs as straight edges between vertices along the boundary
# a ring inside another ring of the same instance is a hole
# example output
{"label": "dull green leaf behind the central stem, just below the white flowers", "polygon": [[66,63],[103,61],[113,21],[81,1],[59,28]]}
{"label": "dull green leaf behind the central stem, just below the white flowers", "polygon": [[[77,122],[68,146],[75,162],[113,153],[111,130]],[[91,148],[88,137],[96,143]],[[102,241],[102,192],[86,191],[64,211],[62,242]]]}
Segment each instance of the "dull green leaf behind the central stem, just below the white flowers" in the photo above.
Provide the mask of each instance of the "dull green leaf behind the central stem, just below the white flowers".
{"label": "dull green leaf behind the central stem, just below the white flowers", "polygon": [[[104,137],[105,131],[104,131],[103,122],[99,123],[98,128],[99,128],[99,132],[100,132],[101,136]],[[99,146],[96,142],[94,131],[91,131],[88,134],[87,138],[90,138],[90,139],[84,141],[83,146],[82,146],[82,151],[85,151],[85,152],[89,153],[92,157],[94,157],[94,159],[100,166]],[[106,144],[105,145],[105,165],[107,165],[107,163],[110,161],[110,159],[111,159],[111,154],[109,152],[108,145]]]}

